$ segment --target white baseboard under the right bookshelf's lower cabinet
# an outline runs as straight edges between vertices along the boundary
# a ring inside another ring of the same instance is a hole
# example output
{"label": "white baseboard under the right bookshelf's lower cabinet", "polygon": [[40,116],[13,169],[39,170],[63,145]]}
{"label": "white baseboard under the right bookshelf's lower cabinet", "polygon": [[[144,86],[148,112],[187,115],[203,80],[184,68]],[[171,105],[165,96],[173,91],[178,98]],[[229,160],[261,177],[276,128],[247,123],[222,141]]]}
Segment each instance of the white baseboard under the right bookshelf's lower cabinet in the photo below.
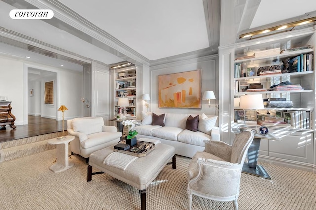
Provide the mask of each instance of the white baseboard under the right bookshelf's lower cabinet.
{"label": "white baseboard under the right bookshelf's lower cabinet", "polygon": [[298,162],[298,161],[293,161],[293,160],[284,160],[281,158],[269,157],[269,156],[260,155],[260,154],[259,154],[258,160],[261,162],[271,163],[278,166],[284,166],[287,168],[294,168],[294,169],[316,173],[315,166],[312,163],[303,163],[303,162]]}

